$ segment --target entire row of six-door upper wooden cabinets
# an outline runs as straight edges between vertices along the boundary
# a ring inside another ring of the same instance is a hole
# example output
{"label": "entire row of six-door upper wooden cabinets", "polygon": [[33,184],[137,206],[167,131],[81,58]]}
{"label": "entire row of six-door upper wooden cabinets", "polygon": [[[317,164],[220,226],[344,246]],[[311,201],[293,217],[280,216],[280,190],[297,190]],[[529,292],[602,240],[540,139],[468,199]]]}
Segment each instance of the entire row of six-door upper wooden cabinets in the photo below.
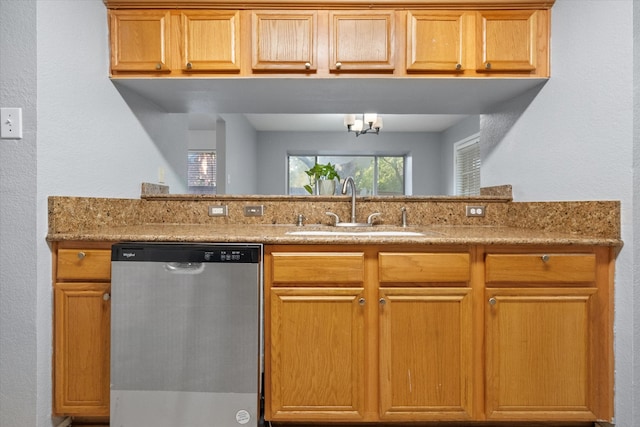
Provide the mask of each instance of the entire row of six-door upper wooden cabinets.
{"label": "entire row of six-door upper wooden cabinets", "polygon": [[124,3],[109,9],[113,77],[550,75],[553,1],[452,2],[448,9],[428,1],[406,8],[269,3],[237,10],[204,0],[183,9]]}

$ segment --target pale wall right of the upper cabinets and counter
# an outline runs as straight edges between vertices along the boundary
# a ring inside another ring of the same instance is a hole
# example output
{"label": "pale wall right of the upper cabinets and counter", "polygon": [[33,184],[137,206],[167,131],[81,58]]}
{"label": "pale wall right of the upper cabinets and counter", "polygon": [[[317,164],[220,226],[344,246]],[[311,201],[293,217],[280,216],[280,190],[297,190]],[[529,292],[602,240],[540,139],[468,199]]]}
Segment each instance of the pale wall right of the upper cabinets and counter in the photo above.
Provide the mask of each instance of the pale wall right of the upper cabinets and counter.
{"label": "pale wall right of the upper cabinets and counter", "polygon": [[517,201],[622,202],[625,246],[616,264],[615,410],[617,424],[624,427],[640,425],[640,414],[634,414],[634,407],[640,411],[639,386],[632,381],[634,375],[638,378],[633,350],[634,326],[638,329],[640,322],[634,306],[638,275],[632,268],[634,226],[640,225],[640,216],[633,216],[638,164],[632,164],[632,12],[631,0],[556,1],[551,79],[530,105],[523,96],[481,119],[483,186],[513,184]]}

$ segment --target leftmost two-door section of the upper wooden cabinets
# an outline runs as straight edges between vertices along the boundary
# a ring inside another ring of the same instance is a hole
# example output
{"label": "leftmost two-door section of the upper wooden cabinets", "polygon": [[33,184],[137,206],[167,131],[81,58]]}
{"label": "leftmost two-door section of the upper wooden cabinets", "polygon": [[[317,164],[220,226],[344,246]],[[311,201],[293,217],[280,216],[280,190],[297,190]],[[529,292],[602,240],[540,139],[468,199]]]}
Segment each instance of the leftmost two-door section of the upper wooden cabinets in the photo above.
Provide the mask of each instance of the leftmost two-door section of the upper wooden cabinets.
{"label": "leftmost two-door section of the upper wooden cabinets", "polygon": [[111,10],[111,72],[240,71],[238,11]]}

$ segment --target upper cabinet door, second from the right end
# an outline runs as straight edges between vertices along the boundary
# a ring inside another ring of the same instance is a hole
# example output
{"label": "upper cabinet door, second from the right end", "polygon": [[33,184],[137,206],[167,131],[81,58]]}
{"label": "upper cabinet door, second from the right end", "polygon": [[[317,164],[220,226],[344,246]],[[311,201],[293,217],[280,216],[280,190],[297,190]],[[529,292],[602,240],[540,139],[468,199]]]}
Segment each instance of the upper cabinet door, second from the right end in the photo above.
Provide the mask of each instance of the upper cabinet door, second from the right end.
{"label": "upper cabinet door, second from the right end", "polygon": [[407,71],[461,73],[467,68],[467,13],[407,13]]}

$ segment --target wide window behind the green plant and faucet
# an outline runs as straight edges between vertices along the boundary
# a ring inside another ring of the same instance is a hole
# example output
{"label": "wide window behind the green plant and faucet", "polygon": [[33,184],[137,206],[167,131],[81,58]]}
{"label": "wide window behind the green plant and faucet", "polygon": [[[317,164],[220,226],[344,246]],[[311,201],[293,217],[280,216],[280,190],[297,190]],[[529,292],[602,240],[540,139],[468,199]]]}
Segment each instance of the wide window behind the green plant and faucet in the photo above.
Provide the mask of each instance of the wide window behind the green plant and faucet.
{"label": "wide window behind the green plant and faucet", "polygon": [[[404,155],[358,155],[358,156],[288,156],[289,182],[287,192],[291,195],[308,195],[304,186],[309,184],[305,171],[315,163],[331,163],[336,166],[341,180],[352,176],[359,196],[398,196],[405,194]],[[336,194],[340,194],[336,186]]]}

